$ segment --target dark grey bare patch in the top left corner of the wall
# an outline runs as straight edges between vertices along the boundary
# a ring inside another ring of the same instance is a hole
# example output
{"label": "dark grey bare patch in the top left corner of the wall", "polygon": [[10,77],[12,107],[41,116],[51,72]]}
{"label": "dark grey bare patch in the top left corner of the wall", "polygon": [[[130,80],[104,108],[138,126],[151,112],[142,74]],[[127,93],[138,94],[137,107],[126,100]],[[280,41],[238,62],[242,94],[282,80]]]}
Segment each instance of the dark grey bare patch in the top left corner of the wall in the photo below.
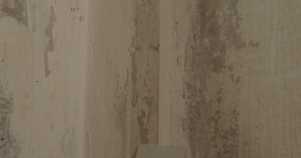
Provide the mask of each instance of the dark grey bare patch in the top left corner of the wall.
{"label": "dark grey bare patch in the top left corner of the wall", "polygon": [[0,5],[0,17],[10,16],[28,26],[26,0],[3,0]]}

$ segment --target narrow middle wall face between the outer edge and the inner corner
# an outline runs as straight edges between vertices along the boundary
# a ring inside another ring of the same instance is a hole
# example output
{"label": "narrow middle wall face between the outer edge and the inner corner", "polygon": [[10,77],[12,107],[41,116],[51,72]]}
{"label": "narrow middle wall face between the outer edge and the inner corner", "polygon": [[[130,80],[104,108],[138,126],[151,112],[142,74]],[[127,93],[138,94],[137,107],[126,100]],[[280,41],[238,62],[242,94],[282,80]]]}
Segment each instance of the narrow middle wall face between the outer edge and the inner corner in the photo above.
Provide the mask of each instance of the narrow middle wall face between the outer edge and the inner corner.
{"label": "narrow middle wall face between the outer edge and the inner corner", "polygon": [[140,143],[157,144],[158,1],[92,0],[90,10],[87,148],[132,158]]}

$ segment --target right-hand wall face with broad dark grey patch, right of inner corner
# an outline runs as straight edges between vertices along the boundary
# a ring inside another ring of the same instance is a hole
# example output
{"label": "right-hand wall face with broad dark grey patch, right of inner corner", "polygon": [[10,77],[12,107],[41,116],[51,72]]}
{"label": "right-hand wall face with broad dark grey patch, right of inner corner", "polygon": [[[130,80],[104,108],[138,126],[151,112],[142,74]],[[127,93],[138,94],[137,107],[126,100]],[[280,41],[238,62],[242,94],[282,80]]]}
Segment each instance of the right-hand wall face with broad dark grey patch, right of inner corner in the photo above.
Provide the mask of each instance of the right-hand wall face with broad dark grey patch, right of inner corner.
{"label": "right-hand wall face with broad dark grey patch, right of inner corner", "polygon": [[159,145],[301,157],[301,2],[161,0]]}

